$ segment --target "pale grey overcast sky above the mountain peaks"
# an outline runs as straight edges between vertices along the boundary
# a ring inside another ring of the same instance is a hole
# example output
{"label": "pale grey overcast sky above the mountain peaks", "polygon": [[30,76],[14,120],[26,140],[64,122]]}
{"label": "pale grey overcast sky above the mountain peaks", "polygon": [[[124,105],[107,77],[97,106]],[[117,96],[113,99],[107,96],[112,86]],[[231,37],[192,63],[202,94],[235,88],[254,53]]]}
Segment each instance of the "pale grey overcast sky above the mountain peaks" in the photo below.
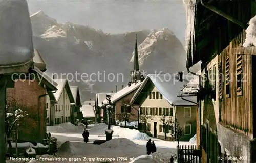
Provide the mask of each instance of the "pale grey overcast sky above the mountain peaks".
{"label": "pale grey overcast sky above the mountain peaks", "polygon": [[60,23],[90,25],[110,33],[167,27],[185,42],[182,0],[28,0],[28,4],[30,14],[42,10]]}

